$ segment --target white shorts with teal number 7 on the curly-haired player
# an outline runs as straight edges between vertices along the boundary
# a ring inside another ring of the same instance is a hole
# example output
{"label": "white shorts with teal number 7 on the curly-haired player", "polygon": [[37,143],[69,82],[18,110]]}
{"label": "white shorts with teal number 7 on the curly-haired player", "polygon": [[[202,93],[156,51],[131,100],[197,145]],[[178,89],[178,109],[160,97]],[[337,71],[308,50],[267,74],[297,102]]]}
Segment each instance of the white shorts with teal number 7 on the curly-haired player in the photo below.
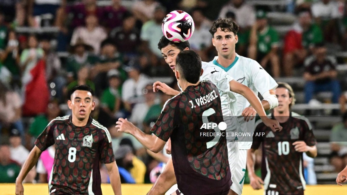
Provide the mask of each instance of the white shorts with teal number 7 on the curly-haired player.
{"label": "white shorts with teal number 7 on the curly-haired player", "polygon": [[237,193],[242,194],[243,183],[245,181],[246,172],[246,160],[247,160],[247,150],[238,150],[238,158],[235,166],[235,170],[232,173],[231,181],[232,185],[230,189]]}

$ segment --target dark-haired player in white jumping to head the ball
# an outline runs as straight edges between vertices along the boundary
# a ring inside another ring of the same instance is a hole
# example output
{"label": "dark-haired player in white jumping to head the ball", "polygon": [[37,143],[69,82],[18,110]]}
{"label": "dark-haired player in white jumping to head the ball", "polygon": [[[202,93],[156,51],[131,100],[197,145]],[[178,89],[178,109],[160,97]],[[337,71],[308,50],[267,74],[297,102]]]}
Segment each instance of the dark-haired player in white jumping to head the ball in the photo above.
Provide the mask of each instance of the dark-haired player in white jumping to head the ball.
{"label": "dark-haired player in white jumping to head the ball", "polygon": [[[168,65],[170,66],[170,68],[173,71],[175,71],[177,54],[180,51],[188,50],[189,42],[186,41],[183,43],[174,43],[167,40],[163,36],[158,43],[158,48],[161,50],[163,57],[165,61],[168,63]],[[227,129],[234,129],[234,131],[236,131],[236,129],[239,128],[237,120],[232,121],[232,116],[236,116],[234,115],[234,112],[233,112],[235,109],[233,109],[234,107],[232,107],[232,105],[236,101],[235,93],[239,93],[245,96],[246,99],[249,102],[251,102],[252,105],[256,107],[255,110],[258,110],[261,113],[263,113],[263,114],[260,114],[262,115],[261,118],[264,118],[264,120],[268,120],[268,118],[265,117],[265,114],[264,114],[265,111],[261,105],[261,102],[259,98],[255,95],[255,93],[252,90],[250,90],[248,87],[236,82],[236,80],[232,79],[220,67],[215,66],[208,62],[203,62],[202,75],[200,77],[200,80],[210,80],[212,83],[214,83],[218,87],[220,97],[221,97],[221,102],[222,102],[221,106],[222,106],[223,116],[228,116],[228,117],[224,117],[225,122],[227,123],[227,126],[228,126]],[[153,84],[153,90],[154,91],[161,90],[168,95],[177,95],[181,93],[179,91],[176,91],[170,88],[168,85],[158,81]],[[235,92],[235,93],[232,93],[232,92]],[[268,123],[269,127],[271,127],[275,131],[281,129],[277,121],[266,121],[266,122]],[[229,160],[229,163],[232,164],[233,162],[236,162],[235,159],[237,157],[235,156],[236,154],[235,151],[237,151],[237,144],[233,144],[235,143],[233,138],[231,139],[229,138],[228,141],[230,145],[233,145],[232,147],[228,147],[229,159],[230,159],[230,156],[234,155],[232,159]],[[235,165],[232,164],[232,166],[230,166],[230,170],[232,171],[234,167]],[[161,174],[161,176],[165,175],[163,173]],[[159,178],[161,178],[161,176],[159,176]],[[173,185],[173,184],[171,185],[167,179],[160,180],[159,178],[158,178],[158,181],[152,187],[149,194],[161,194],[163,192],[166,192],[165,190],[168,189],[167,187],[171,187]],[[165,184],[163,184],[164,181],[165,181]]]}

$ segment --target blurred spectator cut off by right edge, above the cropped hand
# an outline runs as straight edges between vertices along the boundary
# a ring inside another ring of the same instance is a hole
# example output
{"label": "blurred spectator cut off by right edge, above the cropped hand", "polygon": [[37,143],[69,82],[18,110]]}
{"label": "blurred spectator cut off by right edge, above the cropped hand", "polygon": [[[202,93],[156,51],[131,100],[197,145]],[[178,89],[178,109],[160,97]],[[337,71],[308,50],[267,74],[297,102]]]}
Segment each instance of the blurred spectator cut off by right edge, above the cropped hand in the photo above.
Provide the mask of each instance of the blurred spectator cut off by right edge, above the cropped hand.
{"label": "blurred spectator cut off by right edge, above the cropped hand", "polygon": [[330,134],[330,164],[335,172],[340,172],[347,164],[347,112],[342,115],[342,121],[334,125]]}

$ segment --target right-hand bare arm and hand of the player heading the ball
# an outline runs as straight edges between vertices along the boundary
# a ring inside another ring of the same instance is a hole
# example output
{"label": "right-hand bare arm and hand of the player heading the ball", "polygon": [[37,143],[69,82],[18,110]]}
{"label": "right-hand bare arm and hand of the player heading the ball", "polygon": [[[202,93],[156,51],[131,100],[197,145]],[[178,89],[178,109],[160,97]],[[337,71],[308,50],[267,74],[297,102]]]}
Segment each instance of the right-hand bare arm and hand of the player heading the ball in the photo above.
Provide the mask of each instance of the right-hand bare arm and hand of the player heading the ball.
{"label": "right-hand bare arm and hand of the player heading the ball", "polygon": [[255,111],[258,113],[264,124],[271,128],[273,131],[281,130],[282,127],[279,125],[277,120],[272,120],[266,117],[265,110],[256,96],[256,94],[247,86],[237,82],[236,80],[231,80],[230,91],[243,95],[247,101],[252,105]]}

